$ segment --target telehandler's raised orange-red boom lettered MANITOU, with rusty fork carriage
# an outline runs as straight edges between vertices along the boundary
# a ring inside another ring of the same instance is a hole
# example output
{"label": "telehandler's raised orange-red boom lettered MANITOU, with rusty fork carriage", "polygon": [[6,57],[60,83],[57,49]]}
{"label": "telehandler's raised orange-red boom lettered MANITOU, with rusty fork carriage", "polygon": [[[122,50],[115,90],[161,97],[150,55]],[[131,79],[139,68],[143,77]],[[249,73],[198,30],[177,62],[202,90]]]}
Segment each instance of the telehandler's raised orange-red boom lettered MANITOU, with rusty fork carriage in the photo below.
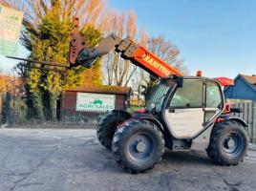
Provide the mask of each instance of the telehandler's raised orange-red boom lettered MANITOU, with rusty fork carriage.
{"label": "telehandler's raised orange-red boom lettered MANITOU, with rusty fork carriage", "polygon": [[167,77],[170,74],[182,76],[181,72],[162,61],[157,55],[149,52],[139,44],[132,41],[129,37],[120,39],[115,33],[103,38],[96,48],[90,50],[86,47],[82,36],[78,32],[78,19],[75,18],[75,29],[72,33],[70,46],[69,62],[71,65],[82,65],[91,68],[96,59],[113,49],[120,53],[120,56],[130,60],[156,77]]}

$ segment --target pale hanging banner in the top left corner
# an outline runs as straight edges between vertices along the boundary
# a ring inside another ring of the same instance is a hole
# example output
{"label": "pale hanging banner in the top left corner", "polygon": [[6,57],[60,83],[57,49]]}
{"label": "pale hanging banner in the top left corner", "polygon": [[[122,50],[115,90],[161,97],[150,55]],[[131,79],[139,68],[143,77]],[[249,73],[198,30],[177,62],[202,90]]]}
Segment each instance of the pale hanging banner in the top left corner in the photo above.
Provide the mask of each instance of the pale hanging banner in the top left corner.
{"label": "pale hanging banner in the top left corner", "polygon": [[0,53],[15,56],[22,25],[23,12],[0,4]]}

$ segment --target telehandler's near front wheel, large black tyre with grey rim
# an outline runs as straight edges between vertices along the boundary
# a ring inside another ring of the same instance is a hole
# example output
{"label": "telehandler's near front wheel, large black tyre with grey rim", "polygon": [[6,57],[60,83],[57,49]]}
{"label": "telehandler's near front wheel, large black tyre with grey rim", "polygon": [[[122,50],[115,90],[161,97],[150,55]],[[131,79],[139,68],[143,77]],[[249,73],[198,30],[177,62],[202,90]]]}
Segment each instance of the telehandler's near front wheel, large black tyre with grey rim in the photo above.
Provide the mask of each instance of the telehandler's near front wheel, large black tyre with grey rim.
{"label": "telehandler's near front wheel, large black tyre with grey rim", "polygon": [[112,150],[121,168],[130,173],[146,172],[160,161],[164,139],[153,122],[131,119],[118,128]]}

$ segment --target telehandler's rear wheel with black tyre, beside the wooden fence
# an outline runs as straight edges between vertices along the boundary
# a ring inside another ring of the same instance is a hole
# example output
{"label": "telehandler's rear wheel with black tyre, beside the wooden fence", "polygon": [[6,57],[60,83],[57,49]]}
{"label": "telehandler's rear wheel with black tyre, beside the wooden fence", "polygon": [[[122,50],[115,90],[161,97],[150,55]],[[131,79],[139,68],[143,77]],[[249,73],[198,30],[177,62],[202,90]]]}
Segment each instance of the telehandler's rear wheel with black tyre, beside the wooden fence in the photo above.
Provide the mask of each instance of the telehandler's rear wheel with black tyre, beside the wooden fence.
{"label": "telehandler's rear wheel with black tyre, beside the wooden fence", "polygon": [[216,163],[237,165],[243,161],[247,149],[248,137],[240,122],[225,120],[213,127],[207,155]]}

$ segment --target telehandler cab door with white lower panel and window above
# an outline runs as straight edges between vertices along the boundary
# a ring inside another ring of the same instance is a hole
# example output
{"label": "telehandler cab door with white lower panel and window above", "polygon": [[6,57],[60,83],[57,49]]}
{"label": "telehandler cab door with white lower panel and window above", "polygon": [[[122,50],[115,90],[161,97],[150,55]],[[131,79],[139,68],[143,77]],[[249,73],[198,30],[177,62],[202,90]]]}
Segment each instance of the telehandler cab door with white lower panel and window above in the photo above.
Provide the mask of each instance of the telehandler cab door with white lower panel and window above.
{"label": "telehandler cab door with white lower panel and window above", "polygon": [[175,138],[192,138],[202,129],[204,86],[202,79],[184,79],[164,112],[164,119]]}

